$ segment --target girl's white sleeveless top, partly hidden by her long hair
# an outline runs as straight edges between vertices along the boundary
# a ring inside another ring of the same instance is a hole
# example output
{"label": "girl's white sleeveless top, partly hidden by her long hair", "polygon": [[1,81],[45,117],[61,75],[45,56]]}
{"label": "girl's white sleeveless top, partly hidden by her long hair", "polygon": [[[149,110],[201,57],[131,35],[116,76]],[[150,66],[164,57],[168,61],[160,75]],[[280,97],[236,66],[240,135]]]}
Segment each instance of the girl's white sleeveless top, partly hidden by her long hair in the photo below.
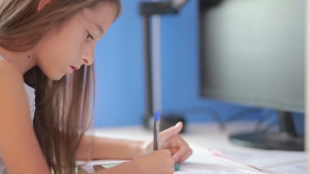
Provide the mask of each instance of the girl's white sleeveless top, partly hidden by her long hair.
{"label": "girl's white sleeveless top, partly hidden by her long hair", "polygon": [[[5,61],[4,58],[0,55],[0,61]],[[31,117],[31,124],[33,123],[33,118],[35,115],[36,105],[35,105],[35,89],[31,88],[29,85],[24,83],[24,89],[27,94],[29,108],[30,108],[30,117]],[[5,167],[4,162],[2,161],[1,154],[0,154],[0,174],[7,174],[9,173]]]}

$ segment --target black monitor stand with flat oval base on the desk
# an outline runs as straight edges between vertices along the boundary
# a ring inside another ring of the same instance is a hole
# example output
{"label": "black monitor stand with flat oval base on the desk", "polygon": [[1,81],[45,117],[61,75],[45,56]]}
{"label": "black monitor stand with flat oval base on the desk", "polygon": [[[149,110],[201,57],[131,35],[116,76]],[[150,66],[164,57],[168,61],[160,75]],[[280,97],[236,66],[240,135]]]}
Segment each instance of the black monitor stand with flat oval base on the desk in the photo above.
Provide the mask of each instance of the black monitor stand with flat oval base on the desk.
{"label": "black monitor stand with flat oval base on the desk", "polygon": [[277,111],[280,132],[244,133],[230,135],[229,140],[239,146],[285,151],[304,151],[304,138],[297,135],[292,112]]}

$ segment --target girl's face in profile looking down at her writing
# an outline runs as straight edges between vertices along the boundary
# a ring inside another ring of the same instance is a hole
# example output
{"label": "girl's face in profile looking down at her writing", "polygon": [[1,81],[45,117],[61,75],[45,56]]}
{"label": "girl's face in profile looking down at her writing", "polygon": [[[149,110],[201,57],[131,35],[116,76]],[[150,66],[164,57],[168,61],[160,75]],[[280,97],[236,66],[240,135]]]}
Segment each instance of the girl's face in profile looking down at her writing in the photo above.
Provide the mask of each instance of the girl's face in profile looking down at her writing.
{"label": "girl's face in profile looking down at her writing", "polygon": [[46,33],[33,49],[43,73],[52,80],[94,62],[96,42],[114,21],[116,6],[105,3],[95,10],[84,9],[60,28]]}

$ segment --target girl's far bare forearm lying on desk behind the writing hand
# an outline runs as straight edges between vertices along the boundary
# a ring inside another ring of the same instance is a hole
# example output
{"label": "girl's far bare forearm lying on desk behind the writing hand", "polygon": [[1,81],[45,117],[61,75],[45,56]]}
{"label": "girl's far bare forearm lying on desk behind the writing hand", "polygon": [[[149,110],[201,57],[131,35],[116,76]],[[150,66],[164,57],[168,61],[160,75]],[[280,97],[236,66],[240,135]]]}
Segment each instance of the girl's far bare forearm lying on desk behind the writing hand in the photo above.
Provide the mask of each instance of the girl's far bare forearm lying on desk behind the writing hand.
{"label": "girl's far bare forearm lying on desk behind the writing hand", "polygon": [[104,138],[85,135],[77,149],[77,160],[89,158],[90,147],[93,143],[92,159],[127,159],[143,155],[142,141]]}

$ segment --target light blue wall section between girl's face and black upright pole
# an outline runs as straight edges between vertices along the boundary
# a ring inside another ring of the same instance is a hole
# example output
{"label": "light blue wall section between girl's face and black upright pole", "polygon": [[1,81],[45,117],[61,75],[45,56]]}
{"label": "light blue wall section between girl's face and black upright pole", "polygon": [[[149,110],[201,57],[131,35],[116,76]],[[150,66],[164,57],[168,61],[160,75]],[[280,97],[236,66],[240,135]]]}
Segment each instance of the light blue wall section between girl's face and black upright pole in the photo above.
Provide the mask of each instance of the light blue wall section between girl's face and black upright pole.
{"label": "light blue wall section between girl's face and black upright pole", "polygon": [[123,1],[122,16],[95,49],[95,126],[139,124],[144,110],[139,1]]}

